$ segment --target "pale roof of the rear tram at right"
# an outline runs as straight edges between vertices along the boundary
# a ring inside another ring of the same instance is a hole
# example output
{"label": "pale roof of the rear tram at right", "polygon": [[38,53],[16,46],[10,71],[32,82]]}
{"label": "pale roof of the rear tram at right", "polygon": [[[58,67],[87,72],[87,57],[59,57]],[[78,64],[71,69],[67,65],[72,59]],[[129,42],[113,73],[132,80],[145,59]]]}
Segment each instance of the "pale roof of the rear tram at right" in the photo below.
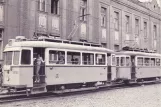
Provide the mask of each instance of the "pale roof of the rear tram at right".
{"label": "pale roof of the rear tram at right", "polygon": [[145,52],[135,52],[135,51],[120,51],[116,55],[134,55],[134,56],[152,56],[152,57],[161,57],[159,53],[145,53]]}

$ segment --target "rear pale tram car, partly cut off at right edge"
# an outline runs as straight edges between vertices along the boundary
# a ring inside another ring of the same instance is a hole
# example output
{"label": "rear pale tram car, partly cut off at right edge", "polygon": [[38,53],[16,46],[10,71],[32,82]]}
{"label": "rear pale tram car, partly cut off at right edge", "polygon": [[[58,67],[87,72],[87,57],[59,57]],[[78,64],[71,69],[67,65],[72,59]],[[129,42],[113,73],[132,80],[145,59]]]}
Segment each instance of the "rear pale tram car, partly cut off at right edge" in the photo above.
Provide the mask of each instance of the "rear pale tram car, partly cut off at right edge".
{"label": "rear pale tram car, partly cut off at right edge", "polygon": [[161,54],[120,51],[116,55],[116,78],[126,84],[161,80]]}

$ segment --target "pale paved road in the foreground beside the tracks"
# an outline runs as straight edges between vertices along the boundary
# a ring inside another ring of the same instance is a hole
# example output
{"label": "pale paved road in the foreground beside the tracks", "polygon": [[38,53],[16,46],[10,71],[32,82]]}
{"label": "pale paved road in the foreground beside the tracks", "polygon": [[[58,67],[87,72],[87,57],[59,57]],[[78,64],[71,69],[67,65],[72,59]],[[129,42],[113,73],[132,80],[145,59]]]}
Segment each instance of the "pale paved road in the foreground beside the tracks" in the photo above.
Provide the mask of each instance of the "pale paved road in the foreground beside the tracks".
{"label": "pale paved road in the foreground beside the tracks", "polygon": [[161,84],[21,101],[0,107],[161,107]]}

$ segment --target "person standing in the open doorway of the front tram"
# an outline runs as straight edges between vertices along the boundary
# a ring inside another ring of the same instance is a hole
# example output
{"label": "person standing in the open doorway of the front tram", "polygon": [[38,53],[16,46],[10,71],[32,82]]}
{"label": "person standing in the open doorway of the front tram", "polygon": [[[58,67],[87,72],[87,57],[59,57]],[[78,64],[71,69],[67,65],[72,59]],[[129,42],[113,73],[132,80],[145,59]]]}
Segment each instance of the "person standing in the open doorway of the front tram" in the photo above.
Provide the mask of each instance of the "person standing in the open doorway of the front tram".
{"label": "person standing in the open doorway of the front tram", "polygon": [[35,82],[40,82],[40,69],[41,69],[41,65],[42,63],[44,63],[43,58],[40,56],[40,54],[37,55],[37,58],[35,59],[36,61],[36,78],[35,78]]}

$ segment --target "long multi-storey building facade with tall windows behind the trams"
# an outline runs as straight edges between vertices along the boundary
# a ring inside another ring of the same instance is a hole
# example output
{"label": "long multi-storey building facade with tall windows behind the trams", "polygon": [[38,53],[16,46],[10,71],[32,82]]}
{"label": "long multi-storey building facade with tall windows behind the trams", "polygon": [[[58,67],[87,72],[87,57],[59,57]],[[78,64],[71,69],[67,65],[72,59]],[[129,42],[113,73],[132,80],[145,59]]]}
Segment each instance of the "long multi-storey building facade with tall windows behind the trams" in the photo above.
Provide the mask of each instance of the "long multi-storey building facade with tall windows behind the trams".
{"label": "long multi-storey building facade with tall windows behind the trams", "polygon": [[0,0],[0,60],[8,39],[35,36],[124,46],[161,53],[156,0]]}

